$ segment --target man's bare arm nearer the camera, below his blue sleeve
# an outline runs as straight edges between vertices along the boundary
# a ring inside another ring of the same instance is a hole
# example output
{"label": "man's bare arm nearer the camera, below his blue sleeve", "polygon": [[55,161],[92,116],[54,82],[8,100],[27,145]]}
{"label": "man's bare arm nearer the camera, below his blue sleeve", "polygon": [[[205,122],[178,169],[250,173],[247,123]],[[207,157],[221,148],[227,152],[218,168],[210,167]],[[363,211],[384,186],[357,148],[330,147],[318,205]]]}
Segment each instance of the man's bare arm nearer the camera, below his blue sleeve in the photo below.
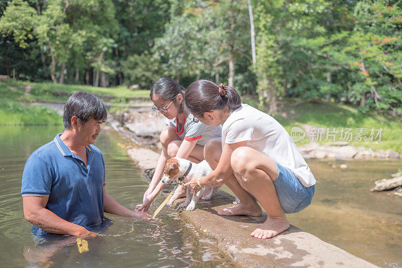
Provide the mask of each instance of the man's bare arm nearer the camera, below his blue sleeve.
{"label": "man's bare arm nearer the camera, below his blue sleeve", "polygon": [[46,209],[48,196],[23,196],[23,208],[25,219],[37,227],[51,233],[66,233],[75,236],[97,236],[84,227],[63,220],[50,210]]}

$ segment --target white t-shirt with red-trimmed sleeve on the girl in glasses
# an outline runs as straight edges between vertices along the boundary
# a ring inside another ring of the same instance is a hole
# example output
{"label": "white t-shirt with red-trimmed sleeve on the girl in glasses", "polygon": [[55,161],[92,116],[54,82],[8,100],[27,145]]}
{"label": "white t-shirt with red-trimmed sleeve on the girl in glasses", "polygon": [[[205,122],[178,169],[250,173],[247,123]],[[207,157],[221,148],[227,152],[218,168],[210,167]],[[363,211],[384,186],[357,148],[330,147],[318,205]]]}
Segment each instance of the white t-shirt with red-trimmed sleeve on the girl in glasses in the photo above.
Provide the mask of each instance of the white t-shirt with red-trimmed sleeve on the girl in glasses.
{"label": "white t-shirt with red-trimmed sleeve on the girl in glasses", "polygon": [[211,139],[221,139],[222,126],[208,126],[202,122],[195,123],[192,118],[194,116],[190,113],[187,118],[184,118],[181,129],[178,129],[177,117],[165,120],[166,125],[172,125],[176,128],[176,134],[180,140],[194,141],[197,144],[205,146]]}

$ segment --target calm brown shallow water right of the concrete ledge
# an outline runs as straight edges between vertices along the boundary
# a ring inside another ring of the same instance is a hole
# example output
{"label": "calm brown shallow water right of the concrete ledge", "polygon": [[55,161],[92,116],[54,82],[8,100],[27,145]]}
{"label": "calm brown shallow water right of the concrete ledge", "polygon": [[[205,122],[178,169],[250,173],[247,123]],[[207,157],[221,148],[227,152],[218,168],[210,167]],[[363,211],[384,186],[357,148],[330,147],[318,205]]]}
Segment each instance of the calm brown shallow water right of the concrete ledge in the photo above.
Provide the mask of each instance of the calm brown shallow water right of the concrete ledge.
{"label": "calm brown shallow water right of the concrete ledge", "polygon": [[[348,168],[333,168],[346,163]],[[289,214],[291,224],[353,255],[383,267],[402,267],[402,198],[371,193],[401,160],[311,161],[317,178],[313,203]]]}

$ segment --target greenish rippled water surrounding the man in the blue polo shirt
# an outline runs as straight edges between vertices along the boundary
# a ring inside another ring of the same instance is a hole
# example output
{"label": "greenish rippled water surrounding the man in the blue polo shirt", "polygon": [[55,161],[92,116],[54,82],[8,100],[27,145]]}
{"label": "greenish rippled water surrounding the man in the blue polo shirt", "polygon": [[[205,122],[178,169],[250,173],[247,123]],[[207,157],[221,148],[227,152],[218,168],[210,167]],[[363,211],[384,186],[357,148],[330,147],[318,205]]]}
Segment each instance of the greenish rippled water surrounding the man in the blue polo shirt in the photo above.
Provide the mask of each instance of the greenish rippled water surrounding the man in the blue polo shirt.
{"label": "greenish rippled water surrounding the man in the blue polo shirt", "polygon": [[[180,221],[178,212],[165,207],[159,219],[134,221],[106,214],[112,224],[96,226],[103,234],[88,239],[88,251],[80,253],[76,237],[48,235],[34,237],[32,225],[22,210],[21,177],[25,161],[39,146],[49,142],[59,126],[0,127],[0,250],[2,266],[233,266],[220,253],[216,242],[202,243],[205,237]],[[147,182],[136,172],[126,152],[117,146],[113,131],[100,133],[95,143],[106,163],[107,190],[119,203],[134,209],[141,203]],[[158,197],[151,212],[164,200]],[[131,228],[134,230],[130,232]],[[127,233],[127,234],[125,234]],[[124,234],[124,235],[121,235]],[[121,235],[121,236],[114,236]],[[204,259],[211,261],[203,262]]]}

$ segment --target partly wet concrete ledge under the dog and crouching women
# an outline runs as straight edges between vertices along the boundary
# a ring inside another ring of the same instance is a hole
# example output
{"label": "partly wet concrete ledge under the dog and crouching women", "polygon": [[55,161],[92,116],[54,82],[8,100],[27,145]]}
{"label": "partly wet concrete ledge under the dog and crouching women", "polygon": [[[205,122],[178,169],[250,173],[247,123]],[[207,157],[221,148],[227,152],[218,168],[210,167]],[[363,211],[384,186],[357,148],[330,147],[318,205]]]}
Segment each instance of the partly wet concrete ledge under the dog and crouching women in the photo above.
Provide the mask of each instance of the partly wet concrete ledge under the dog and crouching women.
{"label": "partly wet concrete ledge under the dog and crouching women", "polygon": [[[131,159],[144,171],[154,168],[159,154],[147,148],[127,150]],[[175,201],[178,204],[184,199]],[[216,238],[219,247],[243,267],[376,267],[318,237],[290,226],[270,239],[257,239],[250,233],[266,219],[261,217],[221,216],[217,211],[233,206],[234,197],[219,190],[210,201],[200,200],[191,212],[182,212],[183,220]]]}

